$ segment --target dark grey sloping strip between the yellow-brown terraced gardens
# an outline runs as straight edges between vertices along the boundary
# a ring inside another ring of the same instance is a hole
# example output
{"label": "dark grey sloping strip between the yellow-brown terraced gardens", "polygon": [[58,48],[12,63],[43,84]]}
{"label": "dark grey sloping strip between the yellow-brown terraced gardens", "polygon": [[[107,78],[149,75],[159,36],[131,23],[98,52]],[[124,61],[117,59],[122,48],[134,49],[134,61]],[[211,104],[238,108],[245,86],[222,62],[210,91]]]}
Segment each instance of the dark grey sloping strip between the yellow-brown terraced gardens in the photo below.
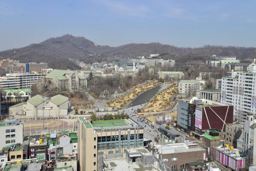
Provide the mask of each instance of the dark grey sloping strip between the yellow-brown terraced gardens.
{"label": "dark grey sloping strip between the yellow-brown terraced gardens", "polygon": [[127,104],[125,108],[131,107],[131,106],[137,106],[145,103],[145,101],[149,101],[158,92],[159,89],[160,89],[160,85],[157,87],[151,88],[150,90],[144,93],[141,93],[136,99],[134,99],[129,104]]}

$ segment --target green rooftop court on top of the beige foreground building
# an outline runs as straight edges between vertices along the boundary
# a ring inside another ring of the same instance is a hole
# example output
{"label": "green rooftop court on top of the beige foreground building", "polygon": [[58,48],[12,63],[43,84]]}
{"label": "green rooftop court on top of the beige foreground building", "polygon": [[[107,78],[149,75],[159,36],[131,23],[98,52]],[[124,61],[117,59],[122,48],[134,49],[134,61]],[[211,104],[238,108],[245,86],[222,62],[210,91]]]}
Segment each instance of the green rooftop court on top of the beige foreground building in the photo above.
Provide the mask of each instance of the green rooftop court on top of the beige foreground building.
{"label": "green rooftop court on top of the beige foreground building", "polygon": [[111,120],[100,120],[100,121],[93,121],[93,127],[116,127],[116,126],[127,126],[128,124],[125,123],[125,119],[111,119]]}

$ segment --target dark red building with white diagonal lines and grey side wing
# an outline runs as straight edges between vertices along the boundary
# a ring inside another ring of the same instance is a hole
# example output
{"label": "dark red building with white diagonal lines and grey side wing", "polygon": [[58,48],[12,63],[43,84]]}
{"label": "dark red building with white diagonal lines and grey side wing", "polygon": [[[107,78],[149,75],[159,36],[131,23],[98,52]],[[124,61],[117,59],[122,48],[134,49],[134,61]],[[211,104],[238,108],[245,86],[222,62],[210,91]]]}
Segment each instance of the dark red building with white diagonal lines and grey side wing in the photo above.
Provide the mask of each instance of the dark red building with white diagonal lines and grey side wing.
{"label": "dark red building with white diagonal lines and grey side wing", "polygon": [[177,125],[187,133],[202,138],[205,130],[217,128],[224,131],[227,123],[233,123],[233,106],[196,97],[178,101]]}

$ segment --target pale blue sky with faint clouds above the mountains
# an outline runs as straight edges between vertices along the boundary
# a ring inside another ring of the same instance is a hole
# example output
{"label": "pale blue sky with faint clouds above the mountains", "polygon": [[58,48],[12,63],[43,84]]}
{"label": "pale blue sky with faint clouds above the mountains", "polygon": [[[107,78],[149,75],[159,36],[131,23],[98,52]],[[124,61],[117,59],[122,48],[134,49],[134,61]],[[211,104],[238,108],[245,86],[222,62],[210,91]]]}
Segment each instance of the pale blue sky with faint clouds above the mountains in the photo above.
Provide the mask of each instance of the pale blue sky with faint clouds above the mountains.
{"label": "pale blue sky with faint clouds above the mountains", "polygon": [[0,51],[65,34],[96,44],[256,47],[255,0],[1,0]]}

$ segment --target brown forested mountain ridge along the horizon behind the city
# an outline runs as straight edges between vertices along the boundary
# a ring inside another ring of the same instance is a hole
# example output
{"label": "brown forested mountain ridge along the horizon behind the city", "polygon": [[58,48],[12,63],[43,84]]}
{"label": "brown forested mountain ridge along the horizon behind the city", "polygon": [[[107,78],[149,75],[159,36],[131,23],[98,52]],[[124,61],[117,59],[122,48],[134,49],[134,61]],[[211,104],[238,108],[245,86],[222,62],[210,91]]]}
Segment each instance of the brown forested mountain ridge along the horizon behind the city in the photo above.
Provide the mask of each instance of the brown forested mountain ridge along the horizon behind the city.
{"label": "brown forested mountain ridge along the horizon behind the city", "polygon": [[[204,46],[200,48],[182,48],[161,43],[130,43],[122,46],[101,46],[84,38],[73,35],[49,38],[41,43],[31,44],[17,49],[0,52],[0,59],[12,58],[21,62],[49,63],[57,69],[76,69],[78,66],[68,58],[84,61],[100,61],[105,58],[134,58],[149,54],[165,54],[167,58],[187,61],[190,56],[236,55],[239,59],[256,58],[256,48],[235,46]],[[100,58],[99,58],[100,56]]]}

